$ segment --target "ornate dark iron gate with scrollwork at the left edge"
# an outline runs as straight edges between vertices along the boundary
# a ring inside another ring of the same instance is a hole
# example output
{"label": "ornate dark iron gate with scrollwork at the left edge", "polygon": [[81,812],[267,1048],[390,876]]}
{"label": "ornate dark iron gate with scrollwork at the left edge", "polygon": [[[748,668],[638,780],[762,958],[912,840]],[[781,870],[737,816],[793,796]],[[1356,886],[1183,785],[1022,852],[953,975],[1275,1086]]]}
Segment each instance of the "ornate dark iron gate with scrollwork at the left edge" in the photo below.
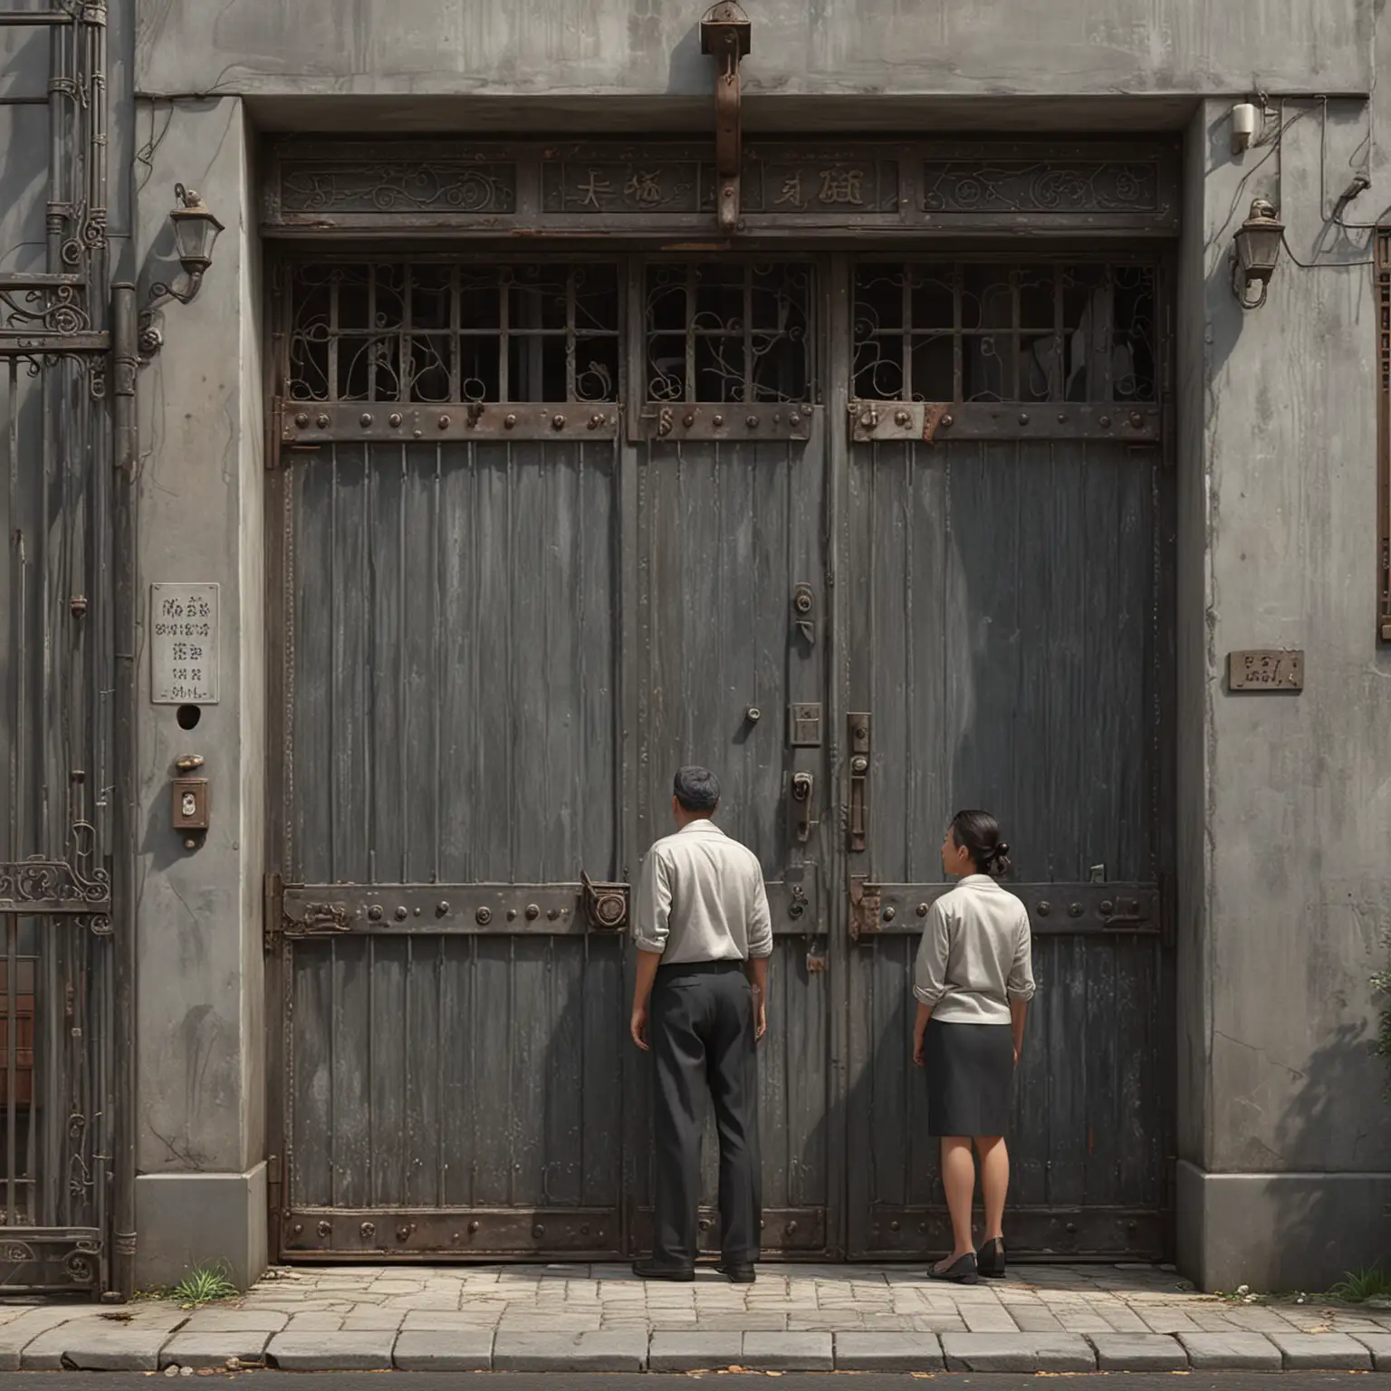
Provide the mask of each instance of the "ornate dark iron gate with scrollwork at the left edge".
{"label": "ornate dark iron gate with scrollwork at the left edge", "polygon": [[[47,40],[47,102],[31,110],[50,163],[33,206],[46,266],[0,274],[0,1285],[97,1292],[129,1289],[134,1255],[113,1106],[128,1082],[113,1035],[128,1020],[113,950],[113,922],[128,926],[113,907],[113,576],[128,537],[113,527],[108,402],[129,420],[135,363],[108,381],[106,7],[57,0],[6,24]],[[134,334],[131,302],[122,291]]]}

